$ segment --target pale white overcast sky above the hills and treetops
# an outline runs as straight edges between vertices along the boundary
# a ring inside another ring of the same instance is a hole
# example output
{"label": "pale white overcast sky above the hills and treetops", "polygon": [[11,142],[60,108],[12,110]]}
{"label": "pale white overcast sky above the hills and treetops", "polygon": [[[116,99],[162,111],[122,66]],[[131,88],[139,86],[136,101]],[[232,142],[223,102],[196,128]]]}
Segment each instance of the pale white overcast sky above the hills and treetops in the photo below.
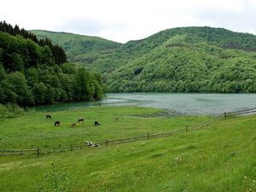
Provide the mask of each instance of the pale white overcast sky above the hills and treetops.
{"label": "pale white overcast sky above the hills and treetops", "polygon": [[256,34],[256,0],[1,0],[0,20],[119,43],[179,26]]}

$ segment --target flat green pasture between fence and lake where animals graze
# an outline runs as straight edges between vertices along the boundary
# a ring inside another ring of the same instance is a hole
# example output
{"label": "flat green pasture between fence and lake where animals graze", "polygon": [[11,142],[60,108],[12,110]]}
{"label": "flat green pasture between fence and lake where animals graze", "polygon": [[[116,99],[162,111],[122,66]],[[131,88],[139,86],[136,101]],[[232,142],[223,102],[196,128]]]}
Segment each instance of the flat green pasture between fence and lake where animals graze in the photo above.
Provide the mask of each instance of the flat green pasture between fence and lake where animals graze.
{"label": "flat green pasture between fence and lake where animals graze", "polygon": [[[206,117],[165,118],[154,108],[97,107],[49,113],[29,113],[19,118],[3,119],[1,148],[55,148],[83,143],[84,140],[101,142],[105,139],[136,137],[147,132],[158,133],[184,129]],[[149,118],[156,116],[154,118]],[[159,117],[157,117],[159,116]],[[77,123],[84,118],[84,123]],[[118,120],[116,120],[118,118]],[[54,126],[55,121],[61,122]],[[97,120],[101,125],[95,126]],[[71,123],[76,127],[71,128]]]}

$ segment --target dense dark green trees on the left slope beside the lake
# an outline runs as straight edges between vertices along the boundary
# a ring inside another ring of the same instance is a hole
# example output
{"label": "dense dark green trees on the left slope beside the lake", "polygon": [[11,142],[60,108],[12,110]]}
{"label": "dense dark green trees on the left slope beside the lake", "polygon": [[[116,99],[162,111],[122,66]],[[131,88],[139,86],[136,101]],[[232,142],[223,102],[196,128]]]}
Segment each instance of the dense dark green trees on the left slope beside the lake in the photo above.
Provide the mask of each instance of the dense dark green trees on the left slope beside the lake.
{"label": "dense dark green trees on the left slope beside the lake", "polygon": [[27,106],[102,95],[99,73],[67,63],[64,50],[49,39],[0,22],[0,103]]}

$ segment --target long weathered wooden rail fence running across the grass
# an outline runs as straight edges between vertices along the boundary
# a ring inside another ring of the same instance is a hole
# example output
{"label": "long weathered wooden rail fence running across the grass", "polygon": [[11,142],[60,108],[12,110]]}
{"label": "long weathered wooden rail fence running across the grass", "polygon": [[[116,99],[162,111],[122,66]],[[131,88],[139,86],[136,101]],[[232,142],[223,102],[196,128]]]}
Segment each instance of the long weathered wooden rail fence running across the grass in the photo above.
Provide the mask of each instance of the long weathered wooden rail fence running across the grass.
{"label": "long weathered wooden rail fence running across the grass", "polygon": [[[177,131],[169,131],[169,132],[162,132],[162,133],[156,133],[156,134],[149,134],[149,132],[143,136],[137,136],[137,137],[127,137],[127,138],[120,138],[120,139],[112,139],[108,140],[106,139],[105,142],[99,142],[95,143],[98,145],[113,145],[113,144],[119,144],[119,143],[131,143],[131,142],[137,142],[137,141],[143,141],[148,139],[154,139],[154,138],[160,138],[160,137],[171,137],[180,133],[193,131],[193,130],[199,130],[207,125],[210,125],[214,122],[216,122],[218,119],[221,118],[228,118],[231,116],[236,116],[240,114],[247,114],[247,113],[256,113],[256,108],[250,108],[245,110],[239,110],[235,112],[228,112],[228,113],[221,113],[218,114],[215,117],[212,117],[211,119],[207,119],[206,121],[193,126],[186,126],[183,130],[177,130]],[[73,150],[79,150],[83,148],[88,148],[88,146],[85,145],[73,145],[71,144],[70,147],[66,148],[30,148],[30,149],[0,149],[0,156],[4,155],[17,155],[17,154],[36,154],[38,157],[42,154],[53,154],[53,153],[64,153],[67,151],[73,151]]]}

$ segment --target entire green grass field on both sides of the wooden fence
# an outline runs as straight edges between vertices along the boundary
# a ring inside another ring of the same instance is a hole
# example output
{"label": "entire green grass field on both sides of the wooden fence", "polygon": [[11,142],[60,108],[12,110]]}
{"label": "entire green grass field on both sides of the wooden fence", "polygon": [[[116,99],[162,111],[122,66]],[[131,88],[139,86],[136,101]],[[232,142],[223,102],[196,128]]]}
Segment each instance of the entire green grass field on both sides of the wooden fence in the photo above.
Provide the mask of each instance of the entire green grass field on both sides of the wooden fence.
{"label": "entire green grass field on both sides of the wooden fence", "polygon": [[[165,117],[152,108],[97,107],[29,113],[0,121],[0,149],[55,148],[183,129],[209,117]],[[84,124],[70,123],[84,118]],[[115,120],[119,117],[118,120]],[[61,121],[55,127],[55,120]],[[94,120],[102,125],[94,126]],[[67,168],[73,191],[256,191],[256,116],[220,119],[166,138],[63,154],[0,156],[0,191],[43,191],[54,163]]]}

